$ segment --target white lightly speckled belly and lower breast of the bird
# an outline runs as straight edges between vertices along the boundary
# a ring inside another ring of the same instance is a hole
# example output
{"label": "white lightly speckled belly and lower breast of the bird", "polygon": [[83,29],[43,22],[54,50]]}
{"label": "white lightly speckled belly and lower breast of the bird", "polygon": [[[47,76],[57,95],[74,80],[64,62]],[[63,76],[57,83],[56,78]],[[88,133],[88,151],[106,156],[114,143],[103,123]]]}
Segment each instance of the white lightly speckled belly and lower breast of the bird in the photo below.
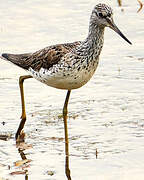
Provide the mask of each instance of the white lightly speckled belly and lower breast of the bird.
{"label": "white lightly speckled belly and lower breast of the bird", "polygon": [[47,84],[48,86],[71,90],[85,85],[93,76],[97,65],[98,63],[96,62],[89,64],[88,68],[83,68],[82,66],[73,69],[56,69],[56,67],[53,67],[52,69],[46,70],[41,68],[39,72],[30,68],[29,72],[35,79]]}

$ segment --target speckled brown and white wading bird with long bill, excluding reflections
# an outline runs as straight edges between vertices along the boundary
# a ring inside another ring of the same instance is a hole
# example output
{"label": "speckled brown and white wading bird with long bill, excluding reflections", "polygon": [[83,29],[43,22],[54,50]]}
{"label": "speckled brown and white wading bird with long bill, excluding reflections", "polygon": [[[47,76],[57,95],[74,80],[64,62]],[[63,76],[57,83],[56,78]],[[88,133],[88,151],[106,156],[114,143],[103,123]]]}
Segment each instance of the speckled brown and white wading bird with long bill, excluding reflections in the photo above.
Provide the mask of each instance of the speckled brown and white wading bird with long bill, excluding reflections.
{"label": "speckled brown and white wading bird with long bill, excluding reflections", "polygon": [[58,89],[67,90],[63,106],[65,141],[68,144],[67,114],[70,93],[84,86],[93,76],[99,63],[104,43],[104,31],[109,27],[125,41],[132,44],[119,30],[113,20],[113,10],[109,5],[99,3],[91,13],[88,35],[83,41],[51,45],[34,53],[3,53],[1,58],[26,70],[28,75],[20,76],[22,115],[15,138],[18,139],[26,122],[23,82],[28,78]]}

